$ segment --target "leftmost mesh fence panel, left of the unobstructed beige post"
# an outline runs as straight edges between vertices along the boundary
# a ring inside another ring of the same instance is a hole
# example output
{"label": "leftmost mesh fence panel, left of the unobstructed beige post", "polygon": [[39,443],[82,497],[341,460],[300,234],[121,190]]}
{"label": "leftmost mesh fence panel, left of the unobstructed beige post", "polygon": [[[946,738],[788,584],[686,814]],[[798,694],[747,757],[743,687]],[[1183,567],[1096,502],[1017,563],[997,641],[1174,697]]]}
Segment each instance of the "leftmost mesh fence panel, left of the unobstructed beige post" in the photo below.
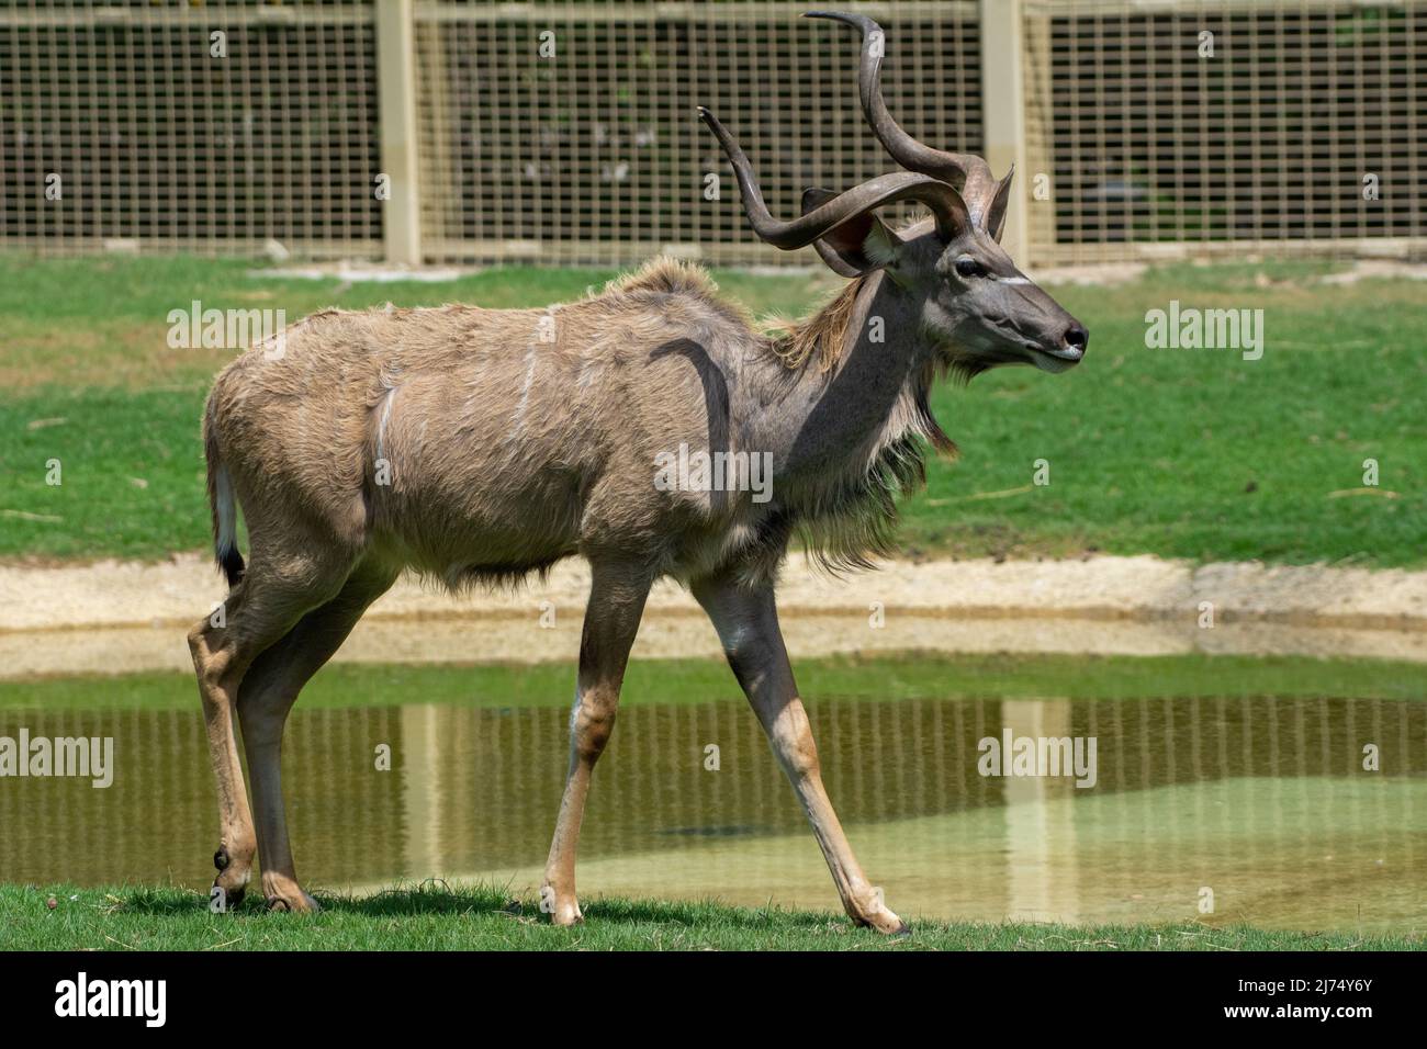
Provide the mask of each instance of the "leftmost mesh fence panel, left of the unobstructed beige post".
{"label": "leftmost mesh fence panel, left of the unobstructed beige post", "polygon": [[0,9],[0,241],[380,253],[370,16],[370,3]]}

